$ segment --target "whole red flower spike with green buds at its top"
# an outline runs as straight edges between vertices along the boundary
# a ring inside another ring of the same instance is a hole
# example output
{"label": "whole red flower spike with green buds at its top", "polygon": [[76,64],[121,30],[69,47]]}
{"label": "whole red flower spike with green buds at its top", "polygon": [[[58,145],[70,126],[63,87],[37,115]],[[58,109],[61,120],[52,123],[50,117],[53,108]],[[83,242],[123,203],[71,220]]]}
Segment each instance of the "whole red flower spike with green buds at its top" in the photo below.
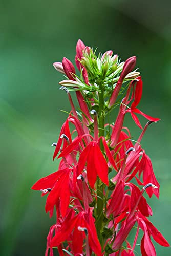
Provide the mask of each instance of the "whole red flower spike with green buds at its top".
{"label": "whole red flower spike with green buds at its top", "polygon": [[[52,144],[53,160],[60,161],[57,171],[32,186],[41,196],[47,195],[45,210],[50,217],[54,211],[56,215],[45,255],[53,256],[57,249],[61,256],[134,256],[141,229],[141,254],[155,256],[151,237],[161,246],[169,244],[148,220],[153,211],[144,192],[159,198],[160,184],[140,143],[149,124],[160,119],[138,109],[143,83],[134,71],[136,57],[122,62],[112,50],[96,52],[79,39],[75,64],[80,73],[66,57],[53,63],[67,76],[59,84],[71,111]],[[105,123],[115,107],[116,120]],[[141,129],[137,114],[148,120],[138,139],[133,140],[124,126],[126,113]],[[133,227],[137,230],[130,241]]]}

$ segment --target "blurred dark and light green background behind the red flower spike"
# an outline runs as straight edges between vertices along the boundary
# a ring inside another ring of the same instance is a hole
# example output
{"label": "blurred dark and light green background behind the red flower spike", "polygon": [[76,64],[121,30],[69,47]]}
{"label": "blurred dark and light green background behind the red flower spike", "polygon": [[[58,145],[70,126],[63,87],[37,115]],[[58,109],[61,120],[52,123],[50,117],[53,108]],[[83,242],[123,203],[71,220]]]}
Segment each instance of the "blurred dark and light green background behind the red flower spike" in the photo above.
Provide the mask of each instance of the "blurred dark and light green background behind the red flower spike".
{"label": "blurred dark and light green background behind the red flower spike", "polygon": [[[142,142],[161,185],[160,199],[148,199],[151,219],[170,242],[170,8],[168,0],[0,1],[1,255],[44,255],[54,219],[45,213],[46,199],[30,187],[57,170],[51,143],[67,117],[59,110],[70,106],[52,63],[63,56],[73,61],[79,38],[123,60],[137,56],[140,109],[161,118]],[[140,130],[129,115],[126,122],[137,139]],[[155,246],[157,255],[171,254]]]}

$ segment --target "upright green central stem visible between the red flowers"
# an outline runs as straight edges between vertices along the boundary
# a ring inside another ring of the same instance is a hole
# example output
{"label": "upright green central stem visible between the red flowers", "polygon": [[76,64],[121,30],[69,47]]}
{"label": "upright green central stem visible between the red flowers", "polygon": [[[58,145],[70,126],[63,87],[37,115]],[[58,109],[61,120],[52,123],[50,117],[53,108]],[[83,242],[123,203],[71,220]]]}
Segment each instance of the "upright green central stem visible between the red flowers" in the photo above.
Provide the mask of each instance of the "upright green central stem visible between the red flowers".
{"label": "upright green central stem visible between the red flowers", "polygon": [[[104,136],[104,90],[102,83],[99,83],[99,112],[98,112],[98,118],[99,118],[99,137]],[[103,144],[101,142],[100,144],[101,151],[103,152]],[[96,229],[99,241],[102,243],[102,235],[101,235],[101,229],[103,226],[103,183],[97,178],[97,221],[96,221]]]}

